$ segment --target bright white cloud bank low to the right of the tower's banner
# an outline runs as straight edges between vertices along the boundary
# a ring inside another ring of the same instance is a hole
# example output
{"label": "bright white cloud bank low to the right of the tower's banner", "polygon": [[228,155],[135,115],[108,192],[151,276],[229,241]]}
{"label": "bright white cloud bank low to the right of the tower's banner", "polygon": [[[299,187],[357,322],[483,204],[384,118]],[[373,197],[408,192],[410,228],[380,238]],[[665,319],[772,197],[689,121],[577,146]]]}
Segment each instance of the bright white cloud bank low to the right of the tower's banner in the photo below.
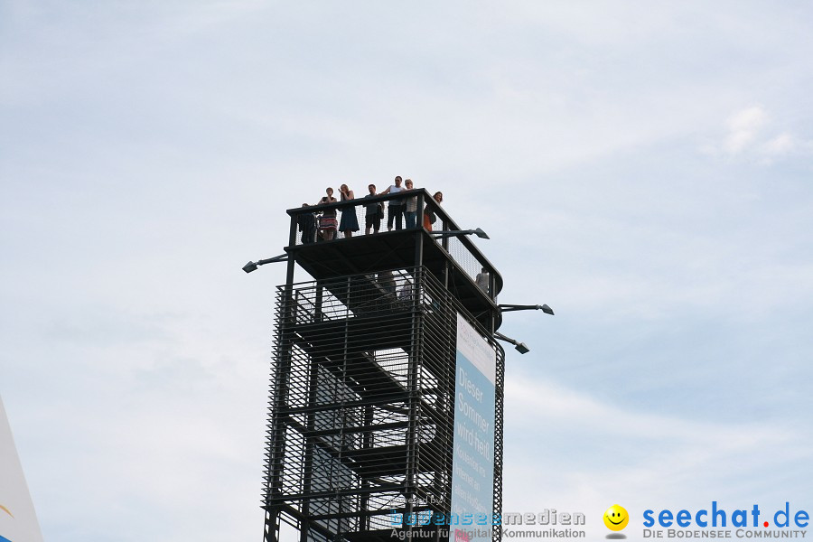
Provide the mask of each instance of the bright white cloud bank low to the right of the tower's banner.
{"label": "bright white cloud bank low to the right of the tower's banner", "polygon": [[792,481],[764,488],[752,476],[790,480],[809,461],[809,439],[792,426],[724,423],[712,412],[697,420],[659,416],[527,378],[507,379],[506,411],[504,510],[590,512],[613,500],[628,509],[670,500],[687,506],[706,495],[769,502],[781,491],[806,491]]}

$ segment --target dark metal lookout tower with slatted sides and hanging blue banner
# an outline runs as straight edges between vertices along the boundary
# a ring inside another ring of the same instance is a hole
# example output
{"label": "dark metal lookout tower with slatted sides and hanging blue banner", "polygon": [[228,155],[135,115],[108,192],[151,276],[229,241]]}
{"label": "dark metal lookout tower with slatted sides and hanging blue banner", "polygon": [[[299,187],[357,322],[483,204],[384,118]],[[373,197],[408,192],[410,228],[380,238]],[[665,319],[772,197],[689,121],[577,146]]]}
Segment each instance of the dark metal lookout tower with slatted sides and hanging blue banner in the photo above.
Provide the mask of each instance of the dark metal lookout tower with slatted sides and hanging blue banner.
{"label": "dark metal lookout tower with slatted sides and hanging blue banner", "polygon": [[[301,542],[391,540],[393,528],[431,540],[500,540],[500,528],[456,533],[464,528],[454,520],[501,510],[505,353],[494,332],[502,279],[465,236],[472,230],[459,229],[428,192],[408,193],[420,215],[436,217],[434,231],[418,220],[363,235],[366,210],[405,201],[404,192],[287,211],[266,542],[279,540],[281,522]],[[332,210],[355,213],[361,231],[319,239],[314,211]],[[313,280],[294,283],[297,265]]]}

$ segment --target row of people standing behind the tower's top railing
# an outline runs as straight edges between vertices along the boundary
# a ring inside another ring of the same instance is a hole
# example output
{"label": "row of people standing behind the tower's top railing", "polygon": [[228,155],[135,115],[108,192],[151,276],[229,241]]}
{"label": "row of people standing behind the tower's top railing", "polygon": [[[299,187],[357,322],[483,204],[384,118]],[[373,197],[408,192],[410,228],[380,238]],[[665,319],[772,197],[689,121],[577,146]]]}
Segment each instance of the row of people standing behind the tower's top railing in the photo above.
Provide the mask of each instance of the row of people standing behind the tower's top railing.
{"label": "row of people standing behind the tower's top railing", "polygon": [[[405,186],[401,186],[401,183],[404,183]],[[413,186],[413,182],[411,179],[406,179],[406,181],[402,181],[401,177],[398,176],[395,178],[394,184],[391,184],[387,190],[383,192],[376,192],[376,185],[369,184],[367,187],[369,190],[369,194],[364,196],[365,199],[372,198],[374,196],[383,196],[386,194],[396,194],[400,192],[409,192],[415,190]],[[333,197],[333,189],[328,187],[325,191],[327,193],[326,196],[323,196],[321,200],[319,200],[316,205],[325,205],[328,203],[335,203],[337,201],[350,201],[355,199],[355,194],[347,184],[342,184],[339,187],[340,198],[341,200],[337,200]],[[436,203],[440,204],[444,201],[444,194],[443,192],[435,192],[433,199]],[[405,193],[403,198],[396,198],[393,200],[388,201],[387,206],[387,229],[391,231],[393,227],[395,229],[403,229],[404,223],[406,222],[406,228],[417,228],[418,226],[418,205],[417,205],[417,196],[409,196]],[[303,207],[310,207],[307,203],[303,203]],[[318,211],[317,211],[318,212]],[[364,204],[364,232],[369,235],[370,231],[373,233],[378,233],[378,230],[381,228],[381,222],[384,220],[384,202],[382,201],[370,201],[369,203]],[[424,210],[424,218],[423,218],[423,227],[428,230],[432,230],[432,224],[435,223],[435,213],[429,209],[428,207]],[[318,223],[318,227],[317,227]],[[341,217],[337,219],[336,209],[326,209],[322,211],[322,215],[319,217],[318,221],[315,218],[314,213],[303,213],[299,217],[299,230],[302,232],[302,240],[304,243],[313,242],[315,241],[316,237],[316,230],[322,232],[322,238],[326,241],[332,240],[335,238],[336,231],[341,231],[344,234],[345,238],[350,238],[353,235],[354,231],[359,231],[359,220],[356,217],[356,208],[355,206],[347,209],[341,210]]]}

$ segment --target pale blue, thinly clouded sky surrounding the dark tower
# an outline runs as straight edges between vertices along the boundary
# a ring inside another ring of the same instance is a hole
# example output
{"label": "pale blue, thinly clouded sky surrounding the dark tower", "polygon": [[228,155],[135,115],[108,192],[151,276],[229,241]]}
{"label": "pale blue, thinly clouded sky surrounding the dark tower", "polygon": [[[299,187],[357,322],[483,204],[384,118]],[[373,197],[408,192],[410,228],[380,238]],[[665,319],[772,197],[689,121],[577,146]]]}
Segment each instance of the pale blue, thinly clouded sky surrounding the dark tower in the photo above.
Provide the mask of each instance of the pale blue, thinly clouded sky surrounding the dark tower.
{"label": "pale blue, thinly clouded sky surrounding the dark tower", "polygon": [[0,396],[44,539],[262,537],[285,276],[240,267],[395,175],[556,312],[500,329],[504,510],[813,511],[811,21],[0,0]]}

